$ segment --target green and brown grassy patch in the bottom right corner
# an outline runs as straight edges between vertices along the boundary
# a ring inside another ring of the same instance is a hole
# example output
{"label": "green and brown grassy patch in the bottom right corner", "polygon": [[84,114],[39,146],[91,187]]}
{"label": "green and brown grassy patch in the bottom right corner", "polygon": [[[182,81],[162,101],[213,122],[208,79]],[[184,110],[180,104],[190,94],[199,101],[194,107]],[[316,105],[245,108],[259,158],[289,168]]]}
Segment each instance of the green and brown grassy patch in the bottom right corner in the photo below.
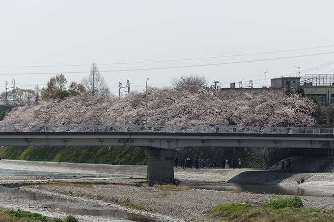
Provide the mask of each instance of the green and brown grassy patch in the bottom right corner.
{"label": "green and brown grassy patch in the bottom right corner", "polygon": [[220,204],[206,214],[225,222],[333,222],[334,210],[304,208],[300,197],[272,200],[265,206]]}

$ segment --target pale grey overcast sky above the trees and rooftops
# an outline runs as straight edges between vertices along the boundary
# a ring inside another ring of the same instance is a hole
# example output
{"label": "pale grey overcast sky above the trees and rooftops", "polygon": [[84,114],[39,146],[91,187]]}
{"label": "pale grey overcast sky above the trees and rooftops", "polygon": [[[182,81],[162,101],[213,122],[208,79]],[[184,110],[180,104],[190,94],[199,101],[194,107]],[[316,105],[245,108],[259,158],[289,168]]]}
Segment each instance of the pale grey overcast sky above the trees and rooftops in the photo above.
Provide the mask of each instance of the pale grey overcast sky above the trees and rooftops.
{"label": "pale grey overcast sky above the trees and rooftops", "polygon": [[116,95],[119,81],[142,90],[147,78],[163,87],[182,74],[222,87],[265,86],[265,71],[269,86],[296,66],[334,74],[333,9],[333,0],[1,0],[0,92],[5,81],[33,89],[60,73],[81,82],[93,62]]}

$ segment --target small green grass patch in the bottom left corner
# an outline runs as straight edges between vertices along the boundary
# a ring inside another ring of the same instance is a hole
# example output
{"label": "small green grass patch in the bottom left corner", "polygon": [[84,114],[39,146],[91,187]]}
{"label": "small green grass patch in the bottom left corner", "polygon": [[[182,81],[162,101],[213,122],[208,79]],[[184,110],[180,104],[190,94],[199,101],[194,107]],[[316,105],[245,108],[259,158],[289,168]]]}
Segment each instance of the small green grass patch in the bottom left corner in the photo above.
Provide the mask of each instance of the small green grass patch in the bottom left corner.
{"label": "small green grass patch in the bottom left corner", "polygon": [[0,208],[0,222],[78,222],[78,219],[69,215],[64,220],[61,220],[21,209],[4,210]]}

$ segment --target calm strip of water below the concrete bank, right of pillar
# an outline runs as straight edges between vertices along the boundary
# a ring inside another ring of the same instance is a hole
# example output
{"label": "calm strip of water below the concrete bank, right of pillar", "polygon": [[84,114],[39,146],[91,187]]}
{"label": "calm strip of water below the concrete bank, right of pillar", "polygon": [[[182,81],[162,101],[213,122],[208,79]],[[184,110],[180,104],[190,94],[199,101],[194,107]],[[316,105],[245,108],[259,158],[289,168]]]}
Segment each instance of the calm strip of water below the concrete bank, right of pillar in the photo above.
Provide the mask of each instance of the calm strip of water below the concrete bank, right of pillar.
{"label": "calm strip of water below the concrete bank, right of pillar", "polygon": [[239,191],[256,194],[281,194],[294,196],[312,196],[312,197],[332,197],[334,189],[331,188],[300,188],[300,187],[282,187],[272,184],[240,184],[227,182],[194,182],[182,181],[182,184],[191,188],[221,190],[221,191]]}

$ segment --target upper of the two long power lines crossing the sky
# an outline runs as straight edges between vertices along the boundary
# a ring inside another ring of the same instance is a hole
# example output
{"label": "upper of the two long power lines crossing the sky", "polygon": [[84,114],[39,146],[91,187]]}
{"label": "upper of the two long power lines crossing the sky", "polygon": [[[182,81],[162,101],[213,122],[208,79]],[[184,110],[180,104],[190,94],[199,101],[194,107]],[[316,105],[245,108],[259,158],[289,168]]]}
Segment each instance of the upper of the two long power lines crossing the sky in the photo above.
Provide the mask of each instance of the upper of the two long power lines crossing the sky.
{"label": "upper of the two long power lines crossing the sky", "polygon": [[[261,55],[261,54],[270,54],[270,53],[287,52],[287,51],[299,51],[299,50],[307,50],[307,49],[320,49],[320,48],[328,48],[328,47],[334,47],[334,45],[313,47],[313,48],[305,48],[305,49],[290,49],[290,50],[281,50],[281,51],[259,52],[259,53],[250,53],[250,54],[241,54],[241,55],[225,55],[225,56],[214,56],[214,57],[204,57],[204,58],[171,59],[171,60],[144,61],[144,62],[102,63],[102,64],[96,64],[96,65],[99,65],[99,66],[102,66],[102,65],[124,65],[124,64],[138,64],[138,63],[176,62],[176,61],[188,61],[188,60],[200,60],[200,59],[215,59],[215,58],[227,58],[227,57],[237,57],[237,56],[247,56],[247,55]],[[36,67],[69,67],[69,66],[91,66],[91,64],[53,65],[53,66],[0,66],[0,68],[36,68]]]}

